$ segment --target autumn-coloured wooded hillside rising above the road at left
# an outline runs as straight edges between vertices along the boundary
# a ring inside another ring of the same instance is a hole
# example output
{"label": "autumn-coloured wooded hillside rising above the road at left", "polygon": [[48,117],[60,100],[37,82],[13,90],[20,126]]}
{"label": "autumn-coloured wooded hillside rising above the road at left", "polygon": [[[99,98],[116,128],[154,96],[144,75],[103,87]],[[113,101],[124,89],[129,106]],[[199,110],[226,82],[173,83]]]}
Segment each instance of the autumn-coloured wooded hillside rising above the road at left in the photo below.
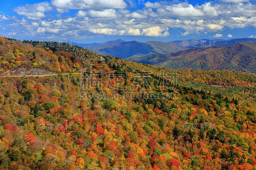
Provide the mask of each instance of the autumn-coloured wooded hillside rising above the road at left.
{"label": "autumn-coloured wooded hillside rising above the road at left", "polygon": [[78,55],[83,55],[84,58],[93,56],[93,59],[100,59],[99,55],[92,51],[70,46],[68,43],[21,42],[13,39],[5,40],[4,37],[0,37],[0,43],[0,74],[2,75],[73,73],[87,67],[88,64]]}

